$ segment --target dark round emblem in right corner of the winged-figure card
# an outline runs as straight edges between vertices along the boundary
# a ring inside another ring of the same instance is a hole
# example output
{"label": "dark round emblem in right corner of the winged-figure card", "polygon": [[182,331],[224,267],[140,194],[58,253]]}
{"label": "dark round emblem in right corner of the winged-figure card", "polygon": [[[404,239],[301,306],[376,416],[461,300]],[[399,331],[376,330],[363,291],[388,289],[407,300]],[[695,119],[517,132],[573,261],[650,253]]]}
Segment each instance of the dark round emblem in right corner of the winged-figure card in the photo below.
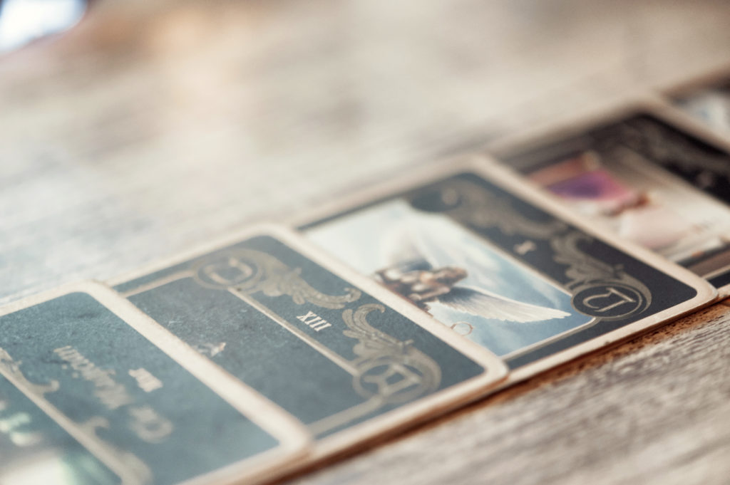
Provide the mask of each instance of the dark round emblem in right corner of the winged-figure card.
{"label": "dark round emblem in right corner of the winged-figure card", "polygon": [[577,288],[572,305],[580,313],[604,320],[630,317],[643,311],[647,300],[642,292],[622,283],[601,283]]}

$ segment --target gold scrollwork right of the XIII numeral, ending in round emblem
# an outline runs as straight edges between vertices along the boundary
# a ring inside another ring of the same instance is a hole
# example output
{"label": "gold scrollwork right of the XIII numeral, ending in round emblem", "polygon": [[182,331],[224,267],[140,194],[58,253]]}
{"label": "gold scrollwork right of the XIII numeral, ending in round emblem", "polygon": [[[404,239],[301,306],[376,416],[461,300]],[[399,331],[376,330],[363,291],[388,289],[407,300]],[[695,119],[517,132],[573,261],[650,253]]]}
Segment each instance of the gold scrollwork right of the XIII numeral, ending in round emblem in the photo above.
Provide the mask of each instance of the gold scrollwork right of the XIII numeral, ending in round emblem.
{"label": "gold scrollwork right of the XIII numeral, ending in round emblem", "polygon": [[353,352],[358,358],[353,362],[358,374],[353,385],[359,395],[376,398],[383,404],[406,403],[438,389],[441,368],[412,341],[399,341],[377,330],[367,322],[372,311],[383,313],[385,307],[377,303],[360,306],[353,311],[342,312],[348,330],[343,334],[356,338]]}

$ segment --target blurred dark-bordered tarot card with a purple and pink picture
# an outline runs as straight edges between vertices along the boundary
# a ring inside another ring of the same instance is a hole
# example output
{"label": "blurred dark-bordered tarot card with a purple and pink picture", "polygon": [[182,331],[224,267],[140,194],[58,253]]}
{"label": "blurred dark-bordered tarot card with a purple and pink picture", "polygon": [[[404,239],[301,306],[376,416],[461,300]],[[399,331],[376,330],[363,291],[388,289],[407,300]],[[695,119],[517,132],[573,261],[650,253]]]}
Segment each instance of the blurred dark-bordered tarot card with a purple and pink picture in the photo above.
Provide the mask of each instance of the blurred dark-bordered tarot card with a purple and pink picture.
{"label": "blurred dark-bordered tarot card with a purple and pink picture", "polygon": [[[650,105],[498,155],[576,212],[730,294],[730,153]],[[669,123],[672,120],[673,124]]]}

